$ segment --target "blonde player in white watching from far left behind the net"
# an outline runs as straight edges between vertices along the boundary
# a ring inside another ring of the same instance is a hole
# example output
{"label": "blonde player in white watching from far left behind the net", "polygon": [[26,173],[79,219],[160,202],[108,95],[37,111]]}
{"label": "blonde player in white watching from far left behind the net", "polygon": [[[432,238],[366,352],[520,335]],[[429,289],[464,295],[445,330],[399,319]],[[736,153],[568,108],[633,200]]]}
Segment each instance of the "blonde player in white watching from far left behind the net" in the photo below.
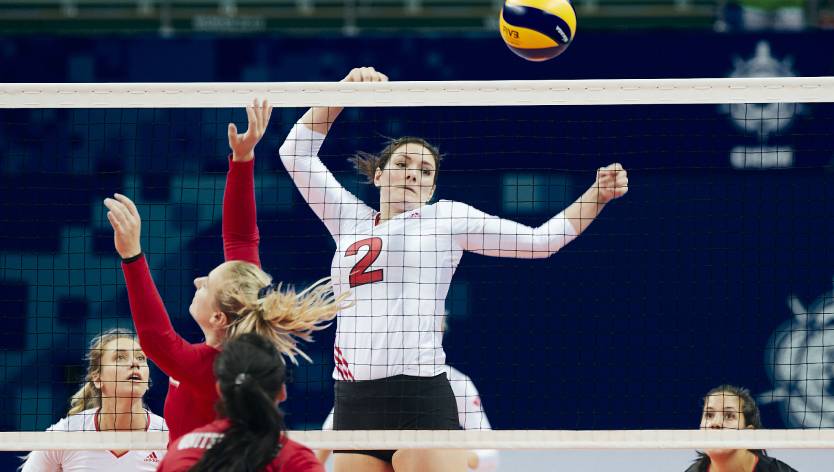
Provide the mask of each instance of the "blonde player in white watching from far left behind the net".
{"label": "blonde player in white watching from far left behind the net", "polygon": [[[84,385],[70,402],[66,418],[48,431],[167,431],[165,422],[147,410],[148,359],[134,334],[110,330],[96,336],[87,351]],[[153,471],[165,451],[33,451],[24,472]]]}

